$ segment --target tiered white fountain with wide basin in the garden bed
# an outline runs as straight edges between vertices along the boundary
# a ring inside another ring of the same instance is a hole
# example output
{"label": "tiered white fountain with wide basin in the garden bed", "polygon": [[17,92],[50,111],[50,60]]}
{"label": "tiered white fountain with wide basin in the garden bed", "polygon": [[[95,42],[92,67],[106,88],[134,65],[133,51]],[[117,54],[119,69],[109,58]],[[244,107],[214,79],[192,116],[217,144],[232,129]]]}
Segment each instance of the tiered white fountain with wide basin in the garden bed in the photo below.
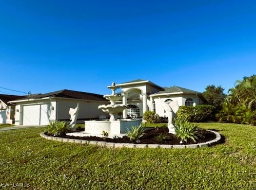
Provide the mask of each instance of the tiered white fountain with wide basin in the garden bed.
{"label": "tiered white fountain with wide basin in the garden bed", "polygon": [[105,131],[109,134],[109,137],[122,137],[127,129],[131,129],[131,126],[136,126],[141,123],[142,120],[136,119],[118,119],[118,113],[122,112],[126,105],[116,104],[117,101],[121,100],[122,97],[115,94],[115,90],[119,87],[113,82],[111,86],[107,86],[111,89],[112,94],[104,95],[103,97],[110,101],[110,104],[99,105],[98,109],[110,115],[109,120],[93,120],[84,121],[85,131],[84,135],[99,136],[102,137],[102,132]]}

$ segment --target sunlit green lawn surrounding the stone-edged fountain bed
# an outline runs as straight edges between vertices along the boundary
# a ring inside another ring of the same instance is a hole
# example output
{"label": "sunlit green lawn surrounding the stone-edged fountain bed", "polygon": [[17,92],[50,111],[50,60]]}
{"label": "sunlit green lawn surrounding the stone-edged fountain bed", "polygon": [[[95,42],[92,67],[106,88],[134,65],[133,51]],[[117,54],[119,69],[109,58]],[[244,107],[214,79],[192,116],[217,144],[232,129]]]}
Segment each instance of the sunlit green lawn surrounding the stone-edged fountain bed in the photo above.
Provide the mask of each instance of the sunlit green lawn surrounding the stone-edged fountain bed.
{"label": "sunlit green lawn surrounding the stone-edged fountain bed", "polygon": [[[41,138],[45,128],[0,132],[1,183],[26,189],[253,190],[256,127],[197,123],[225,136],[198,149],[100,148]],[[10,188],[11,189],[11,188]]]}

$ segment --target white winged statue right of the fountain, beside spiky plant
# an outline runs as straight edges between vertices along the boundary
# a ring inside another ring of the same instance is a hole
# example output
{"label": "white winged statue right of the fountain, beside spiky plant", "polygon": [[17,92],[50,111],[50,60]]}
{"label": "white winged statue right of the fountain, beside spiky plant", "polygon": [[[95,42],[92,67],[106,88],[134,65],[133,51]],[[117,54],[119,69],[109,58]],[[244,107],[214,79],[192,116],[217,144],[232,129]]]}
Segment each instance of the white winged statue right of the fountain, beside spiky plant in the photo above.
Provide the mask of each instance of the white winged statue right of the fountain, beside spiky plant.
{"label": "white winged statue right of the fountain, beside spiky plant", "polygon": [[179,107],[178,103],[177,103],[177,100],[169,102],[169,104],[161,101],[160,98],[159,98],[159,101],[160,101],[161,105],[163,106],[163,109],[165,110],[166,115],[168,117],[169,133],[176,134],[175,126],[173,124],[173,119],[176,117],[176,114],[177,114],[177,111],[178,111],[178,107]]}

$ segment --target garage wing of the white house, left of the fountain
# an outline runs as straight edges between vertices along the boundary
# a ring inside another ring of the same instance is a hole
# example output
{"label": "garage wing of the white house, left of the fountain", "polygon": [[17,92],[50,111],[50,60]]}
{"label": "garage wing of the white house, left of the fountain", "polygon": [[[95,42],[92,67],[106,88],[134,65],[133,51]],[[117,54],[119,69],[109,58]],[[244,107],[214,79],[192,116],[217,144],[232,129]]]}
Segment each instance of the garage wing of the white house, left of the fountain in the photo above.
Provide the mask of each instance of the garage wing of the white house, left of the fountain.
{"label": "garage wing of the white house, left of the fountain", "polygon": [[78,123],[98,119],[100,115],[106,115],[98,105],[108,104],[108,101],[99,94],[64,89],[10,103],[16,104],[15,125],[47,125],[50,121],[70,120],[69,108],[75,108],[78,103]]}

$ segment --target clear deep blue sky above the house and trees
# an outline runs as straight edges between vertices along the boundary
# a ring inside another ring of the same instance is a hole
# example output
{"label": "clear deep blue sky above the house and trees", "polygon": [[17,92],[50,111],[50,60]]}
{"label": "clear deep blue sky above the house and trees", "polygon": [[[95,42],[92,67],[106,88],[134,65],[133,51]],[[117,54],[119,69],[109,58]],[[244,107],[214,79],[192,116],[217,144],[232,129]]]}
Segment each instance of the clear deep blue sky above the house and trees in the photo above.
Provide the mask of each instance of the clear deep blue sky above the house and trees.
{"label": "clear deep blue sky above the house and trees", "polygon": [[225,93],[256,74],[255,0],[5,0],[0,93],[135,79]]}

